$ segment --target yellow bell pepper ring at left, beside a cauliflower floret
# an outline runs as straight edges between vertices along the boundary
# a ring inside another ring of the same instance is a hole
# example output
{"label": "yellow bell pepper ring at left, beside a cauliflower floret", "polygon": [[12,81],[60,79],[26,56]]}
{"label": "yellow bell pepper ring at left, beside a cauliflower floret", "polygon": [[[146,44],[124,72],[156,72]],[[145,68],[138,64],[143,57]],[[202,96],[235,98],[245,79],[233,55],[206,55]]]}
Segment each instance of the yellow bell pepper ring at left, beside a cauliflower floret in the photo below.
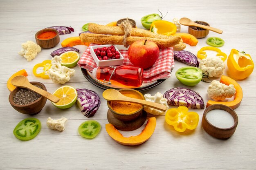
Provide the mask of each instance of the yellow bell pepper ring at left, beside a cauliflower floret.
{"label": "yellow bell pepper ring at left, beside a cauliflower floret", "polygon": [[[49,79],[49,69],[51,68],[52,64],[51,64],[52,60],[45,60],[42,63],[38,63],[34,66],[33,68],[33,74],[36,77],[42,77],[43,79]],[[43,71],[41,73],[37,73],[37,69],[39,67],[43,67]]]}

